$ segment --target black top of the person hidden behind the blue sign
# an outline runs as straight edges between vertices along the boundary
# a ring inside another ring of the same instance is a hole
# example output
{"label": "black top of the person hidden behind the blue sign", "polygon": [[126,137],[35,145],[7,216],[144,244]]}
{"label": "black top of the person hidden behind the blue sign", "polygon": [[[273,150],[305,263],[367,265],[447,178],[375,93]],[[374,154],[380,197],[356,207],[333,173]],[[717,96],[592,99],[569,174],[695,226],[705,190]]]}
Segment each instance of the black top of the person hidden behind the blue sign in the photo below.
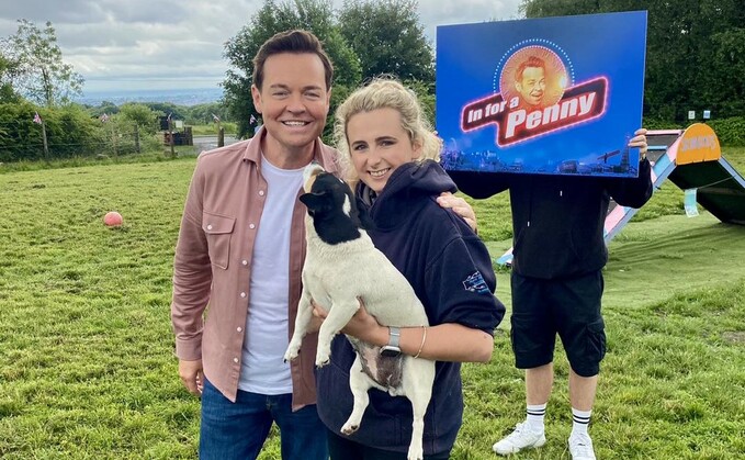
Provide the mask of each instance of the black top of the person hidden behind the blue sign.
{"label": "black top of the person hidden behind the blue sign", "polygon": [[652,197],[650,161],[631,179],[451,171],[460,190],[488,198],[509,189],[512,270],[523,277],[573,278],[608,261],[603,225],[612,198],[641,207]]}

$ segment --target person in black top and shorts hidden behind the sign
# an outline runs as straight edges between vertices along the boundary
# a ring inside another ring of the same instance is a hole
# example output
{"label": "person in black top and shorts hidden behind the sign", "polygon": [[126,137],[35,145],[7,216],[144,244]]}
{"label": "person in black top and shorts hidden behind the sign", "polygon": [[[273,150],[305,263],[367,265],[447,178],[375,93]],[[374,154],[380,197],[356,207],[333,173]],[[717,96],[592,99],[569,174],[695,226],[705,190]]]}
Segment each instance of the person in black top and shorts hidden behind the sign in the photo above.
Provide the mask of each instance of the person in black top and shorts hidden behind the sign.
{"label": "person in black top and shorts hidden behind the sign", "polygon": [[485,175],[449,171],[476,199],[509,189],[512,207],[511,341],[516,367],[526,369],[527,417],[493,449],[507,456],[545,444],[544,415],[553,384],[556,335],[569,361],[574,460],[595,459],[587,427],[606,354],[600,311],[608,260],[603,224],[612,198],[641,207],[652,195],[646,130],[629,147],[640,149],[637,178]]}

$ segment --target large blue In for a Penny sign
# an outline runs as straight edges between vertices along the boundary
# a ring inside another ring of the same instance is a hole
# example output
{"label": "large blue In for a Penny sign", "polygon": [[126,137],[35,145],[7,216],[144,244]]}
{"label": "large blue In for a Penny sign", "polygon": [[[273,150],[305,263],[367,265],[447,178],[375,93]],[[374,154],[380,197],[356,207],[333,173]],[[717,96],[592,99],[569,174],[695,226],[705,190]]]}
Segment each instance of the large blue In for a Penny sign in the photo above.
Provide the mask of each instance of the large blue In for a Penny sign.
{"label": "large blue In for a Penny sign", "polygon": [[437,29],[445,169],[635,177],[646,12]]}

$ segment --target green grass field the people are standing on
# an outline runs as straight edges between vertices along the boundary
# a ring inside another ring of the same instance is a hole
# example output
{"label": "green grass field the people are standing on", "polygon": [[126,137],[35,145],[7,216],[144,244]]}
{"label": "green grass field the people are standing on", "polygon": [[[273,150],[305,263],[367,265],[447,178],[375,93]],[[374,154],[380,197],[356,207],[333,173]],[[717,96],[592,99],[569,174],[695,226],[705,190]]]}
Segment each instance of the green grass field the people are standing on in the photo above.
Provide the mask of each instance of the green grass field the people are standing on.
{"label": "green grass field the people are standing on", "polygon": [[[745,172],[745,149],[725,149]],[[199,402],[177,377],[173,247],[194,159],[0,173],[0,458],[195,458]],[[737,459],[745,452],[745,227],[688,218],[663,187],[611,244],[608,356],[590,428],[601,459]],[[495,257],[507,197],[474,202]],[[124,216],[102,224],[106,211]],[[498,270],[509,303],[509,272]],[[509,322],[488,364],[463,367],[454,459],[492,459],[521,420]],[[549,442],[568,459],[567,367],[557,355]],[[273,433],[262,459],[279,458]]]}

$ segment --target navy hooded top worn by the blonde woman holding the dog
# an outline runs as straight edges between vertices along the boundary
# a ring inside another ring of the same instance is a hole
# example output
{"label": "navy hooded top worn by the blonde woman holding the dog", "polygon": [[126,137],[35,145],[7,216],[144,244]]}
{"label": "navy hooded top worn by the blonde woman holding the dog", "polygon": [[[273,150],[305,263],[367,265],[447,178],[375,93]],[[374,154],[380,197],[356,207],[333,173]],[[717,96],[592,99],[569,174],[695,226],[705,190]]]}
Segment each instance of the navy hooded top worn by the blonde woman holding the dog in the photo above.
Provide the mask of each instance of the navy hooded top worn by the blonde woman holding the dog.
{"label": "navy hooded top worn by the blonde woman holding the dog", "polygon": [[[437,204],[455,184],[434,161],[398,167],[380,195],[370,203],[362,183],[357,190],[360,209],[375,228],[368,231],[375,246],[406,277],[421,300],[431,325],[459,323],[494,333],[505,306],[494,296],[496,277],[484,244],[450,210]],[[369,267],[374,270],[374,267]],[[318,414],[339,434],[351,414],[349,369],[354,352],[339,335],[331,345],[331,362],[317,370]],[[432,397],[425,415],[426,455],[449,451],[463,415],[460,363],[438,362]],[[406,452],[411,439],[411,405],[370,390],[370,405],[360,429],[350,439]]]}

